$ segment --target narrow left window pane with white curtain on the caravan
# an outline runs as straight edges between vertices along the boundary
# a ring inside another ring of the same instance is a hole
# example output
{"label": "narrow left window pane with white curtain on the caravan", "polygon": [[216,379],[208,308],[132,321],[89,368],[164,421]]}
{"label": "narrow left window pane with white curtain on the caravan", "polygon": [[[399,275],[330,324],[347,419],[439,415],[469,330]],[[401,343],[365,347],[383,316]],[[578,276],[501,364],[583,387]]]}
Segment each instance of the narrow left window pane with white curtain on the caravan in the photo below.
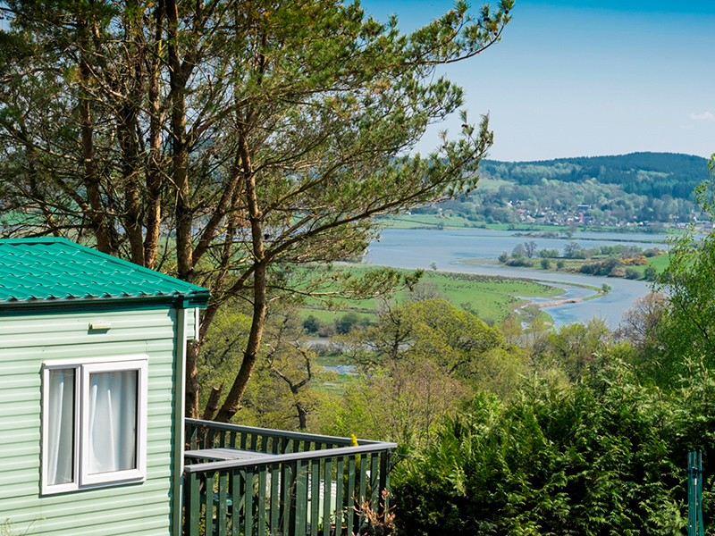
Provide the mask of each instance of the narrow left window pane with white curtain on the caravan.
{"label": "narrow left window pane with white curtain on the caravan", "polygon": [[66,484],[74,474],[74,369],[49,371],[47,483]]}

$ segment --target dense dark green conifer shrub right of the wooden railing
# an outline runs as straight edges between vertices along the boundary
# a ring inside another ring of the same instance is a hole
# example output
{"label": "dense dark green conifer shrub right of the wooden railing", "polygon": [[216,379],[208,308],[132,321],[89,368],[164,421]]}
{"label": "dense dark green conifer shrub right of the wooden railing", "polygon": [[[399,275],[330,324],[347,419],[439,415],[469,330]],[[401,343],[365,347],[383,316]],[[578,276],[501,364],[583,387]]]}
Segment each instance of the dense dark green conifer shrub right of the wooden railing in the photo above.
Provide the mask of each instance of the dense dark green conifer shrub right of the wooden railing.
{"label": "dense dark green conifer shrub right of the wooden railing", "polygon": [[509,404],[477,397],[398,466],[400,534],[680,534],[686,452],[715,451],[714,394],[705,373],[665,396],[604,358],[566,387],[534,379]]}

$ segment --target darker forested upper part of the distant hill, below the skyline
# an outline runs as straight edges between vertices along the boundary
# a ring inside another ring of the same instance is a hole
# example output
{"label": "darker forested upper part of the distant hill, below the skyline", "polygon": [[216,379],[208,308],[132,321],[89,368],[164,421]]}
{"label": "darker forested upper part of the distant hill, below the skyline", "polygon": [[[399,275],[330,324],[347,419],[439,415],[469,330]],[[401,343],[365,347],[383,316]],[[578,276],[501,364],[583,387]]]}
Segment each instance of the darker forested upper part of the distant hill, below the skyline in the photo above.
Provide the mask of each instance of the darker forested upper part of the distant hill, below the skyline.
{"label": "darker forested upper part of the distant hill, below the skyline", "polygon": [[537,162],[484,160],[482,176],[538,184],[542,179],[619,185],[629,194],[693,199],[694,188],[707,178],[708,161],[701,156],[674,153],[631,153],[618,156],[582,156]]}

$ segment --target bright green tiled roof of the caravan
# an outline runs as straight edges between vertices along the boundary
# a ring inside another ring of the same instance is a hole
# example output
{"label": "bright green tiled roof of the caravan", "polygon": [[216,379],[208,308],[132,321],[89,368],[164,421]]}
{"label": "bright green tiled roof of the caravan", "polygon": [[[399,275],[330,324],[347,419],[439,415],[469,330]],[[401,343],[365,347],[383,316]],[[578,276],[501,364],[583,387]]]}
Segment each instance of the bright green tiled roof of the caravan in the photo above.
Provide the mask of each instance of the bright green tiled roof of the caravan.
{"label": "bright green tiled roof of the caravan", "polygon": [[208,290],[68,239],[0,239],[0,309],[147,300],[204,307]]}

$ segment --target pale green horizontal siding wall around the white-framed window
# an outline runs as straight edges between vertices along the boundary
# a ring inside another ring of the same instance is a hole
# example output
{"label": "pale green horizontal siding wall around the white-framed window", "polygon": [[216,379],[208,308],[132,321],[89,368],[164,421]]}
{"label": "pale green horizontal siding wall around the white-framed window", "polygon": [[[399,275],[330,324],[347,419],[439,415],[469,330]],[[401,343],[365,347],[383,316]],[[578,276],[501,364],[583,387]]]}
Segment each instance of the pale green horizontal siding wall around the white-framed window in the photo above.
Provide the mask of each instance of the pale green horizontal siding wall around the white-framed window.
{"label": "pale green horizontal siding wall around the white-framed window", "polygon": [[[175,318],[166,308],[0,317],[0,521],[36,536],[170,534]],[[112,328],[89,331],[92,320]],[[133,354],[149,356],[147,482],[41,496],[42,363]]]}

